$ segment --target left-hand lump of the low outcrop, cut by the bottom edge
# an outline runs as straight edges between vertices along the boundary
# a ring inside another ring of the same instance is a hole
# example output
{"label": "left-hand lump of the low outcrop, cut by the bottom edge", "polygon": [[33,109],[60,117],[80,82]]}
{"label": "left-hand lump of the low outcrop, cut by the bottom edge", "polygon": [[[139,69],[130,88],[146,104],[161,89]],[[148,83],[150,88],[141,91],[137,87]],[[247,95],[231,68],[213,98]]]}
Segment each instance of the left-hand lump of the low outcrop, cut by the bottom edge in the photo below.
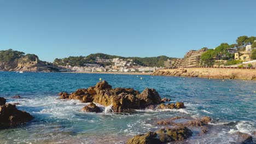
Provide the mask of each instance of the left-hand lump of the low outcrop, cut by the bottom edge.
{"label": "left-hand lump of the low outcrop, cut by the bottom edge", "polygon": [[128,140],[126,144],[160,144],[161,141],[158,139],[155,132],[149,131],[144,135],[133,136],[132,139]]}

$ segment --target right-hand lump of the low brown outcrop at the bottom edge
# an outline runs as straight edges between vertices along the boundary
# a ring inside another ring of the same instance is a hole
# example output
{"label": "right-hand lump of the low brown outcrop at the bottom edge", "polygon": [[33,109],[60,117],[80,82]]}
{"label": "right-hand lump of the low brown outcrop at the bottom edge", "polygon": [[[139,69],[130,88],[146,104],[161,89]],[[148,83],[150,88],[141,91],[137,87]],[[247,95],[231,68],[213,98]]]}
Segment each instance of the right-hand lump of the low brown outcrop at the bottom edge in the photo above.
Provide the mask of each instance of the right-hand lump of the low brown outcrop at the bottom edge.
{"label": "right-hand lump of the low brown outcrop at the bottom edge", "polygon": [[193,132],[184,126],[165,128],[156,131],[161,142],[181,141],[192,136]]}

